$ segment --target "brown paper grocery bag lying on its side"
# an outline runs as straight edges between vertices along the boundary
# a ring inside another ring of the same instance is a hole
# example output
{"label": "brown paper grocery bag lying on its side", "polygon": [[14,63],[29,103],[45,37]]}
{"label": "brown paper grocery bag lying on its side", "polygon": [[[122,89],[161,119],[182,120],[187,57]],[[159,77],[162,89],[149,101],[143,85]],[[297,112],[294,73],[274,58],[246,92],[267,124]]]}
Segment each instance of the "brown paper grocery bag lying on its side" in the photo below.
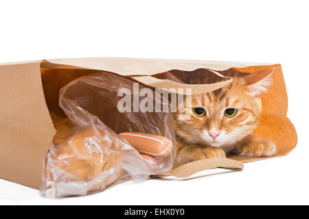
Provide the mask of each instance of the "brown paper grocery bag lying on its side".
{"label": "brown paper grocery bag lying on its side", "polygon": [[[232,68],[233,67],[233,68]],[[264,94],[263,127],[255,132],[259,136],[273,139],[278,145],[278,155],[286,155],[296,143],[295,129],[286,118],[286,88],[280,65],[255,65],[229,62],[207,62],[194,60],[149,60],[130,58],[87,58],[65,60],[43,60],[43,62],[24,62],[3,64],[0,66],[0,177],[16,183],[38,188],[40,184],[42,160],[49,143],[56,133],[53,120],[49,116],[43,95],[41,68],[80,69],[87,74],[92,70],[104,70],[106,73],[130,77],[152,88],[192,88],[192,94],[211,92],[231,83],[231,78],[215,84],[190,85],[178,81],[169,70],[192,71],[207,68],[228,75],[229,70],[254,73],[266,68],[274,68],[274,83],[268,94]],[[219,76],[220,77],[220,76]],[[222,76],[221,76],[222,77]],[[278,110],[280,109],[280,110]],[[55,120],[54,120],[55,121]],[[284,136],[285,138],[281,138]],[[249,162],[264,158],[231,156],[229,158]],[[242,164],[230,159],[206,159],[197,164],[179,166],[170,175],[187,177],[201,169],[225,167],[242,168]],[[173,170],[172,170],[173,171]],[[169,173],[167,173],[168,175]]]}

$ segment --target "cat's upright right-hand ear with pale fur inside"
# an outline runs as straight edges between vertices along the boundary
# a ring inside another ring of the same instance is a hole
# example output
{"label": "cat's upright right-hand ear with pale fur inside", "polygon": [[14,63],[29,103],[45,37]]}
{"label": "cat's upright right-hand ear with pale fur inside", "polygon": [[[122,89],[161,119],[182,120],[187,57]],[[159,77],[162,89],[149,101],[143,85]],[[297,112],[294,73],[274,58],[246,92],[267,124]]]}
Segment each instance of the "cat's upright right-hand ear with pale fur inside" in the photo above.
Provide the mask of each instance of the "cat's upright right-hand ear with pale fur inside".
{"label": "cat's upright right-hand ear with pale fur inside", "polygon": [[273,81],[273,72],[275,69],[262,70],[257,73],[251,73],[245,76],[249,91],[253,96],[258,96],[267,92]]}

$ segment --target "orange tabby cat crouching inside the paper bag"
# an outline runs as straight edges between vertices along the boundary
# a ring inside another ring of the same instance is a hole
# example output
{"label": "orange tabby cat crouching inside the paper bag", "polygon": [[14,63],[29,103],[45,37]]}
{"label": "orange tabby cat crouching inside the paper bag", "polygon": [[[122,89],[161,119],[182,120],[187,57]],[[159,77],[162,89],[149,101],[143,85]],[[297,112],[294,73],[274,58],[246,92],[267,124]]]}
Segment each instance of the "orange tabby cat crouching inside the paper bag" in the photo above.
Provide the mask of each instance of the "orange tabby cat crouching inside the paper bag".
{"label": "orange tabby cat crouching inside the paper bag", "polygon": [[[266,92],[271,75],[248,85],[250,74],[233,73],[233,82],[206,94],[192,95],[192,106],[174,114],[176,160],[225,157],[227,153],[264,157],[275,155],[272,140],[250,136],[262,112],[259,94]],[[218,77],[194,77],[191,83],[214,83]]]}

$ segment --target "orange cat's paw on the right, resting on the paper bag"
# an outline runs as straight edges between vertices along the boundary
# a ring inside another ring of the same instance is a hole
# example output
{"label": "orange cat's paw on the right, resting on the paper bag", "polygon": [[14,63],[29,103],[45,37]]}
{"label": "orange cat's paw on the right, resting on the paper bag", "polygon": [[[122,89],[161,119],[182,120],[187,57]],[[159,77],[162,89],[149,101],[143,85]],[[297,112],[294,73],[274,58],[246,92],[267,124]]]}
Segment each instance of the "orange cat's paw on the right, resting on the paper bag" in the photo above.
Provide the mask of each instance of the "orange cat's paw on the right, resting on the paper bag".
{"label": "orange cat's paw on the right, resting on the paper bag", "polygon": [[275,142],[270,139],[257,139],[242,145],[240,155],[248,157],[270,157],[277,153]]}

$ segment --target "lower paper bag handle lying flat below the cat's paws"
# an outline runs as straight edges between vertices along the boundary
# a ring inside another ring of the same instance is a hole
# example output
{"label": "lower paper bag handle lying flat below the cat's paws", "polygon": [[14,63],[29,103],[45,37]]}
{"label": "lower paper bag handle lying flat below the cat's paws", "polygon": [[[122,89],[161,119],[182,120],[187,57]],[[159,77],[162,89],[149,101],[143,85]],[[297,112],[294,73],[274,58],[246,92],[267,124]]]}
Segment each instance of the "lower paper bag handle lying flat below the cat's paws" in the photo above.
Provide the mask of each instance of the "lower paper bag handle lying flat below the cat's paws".
{"label": "lower paper bag handle lying flat below the cat's paws", "polygon": [[183,164],[182,166],[174,168],[160,175],[185,178],[194,175],[196,172],[201,172],[203,170],[209,170],[214,168],[243,170],[244,163],[238,162],[235,159],[228,159],[228,158],[201,159],[196,162]]}

